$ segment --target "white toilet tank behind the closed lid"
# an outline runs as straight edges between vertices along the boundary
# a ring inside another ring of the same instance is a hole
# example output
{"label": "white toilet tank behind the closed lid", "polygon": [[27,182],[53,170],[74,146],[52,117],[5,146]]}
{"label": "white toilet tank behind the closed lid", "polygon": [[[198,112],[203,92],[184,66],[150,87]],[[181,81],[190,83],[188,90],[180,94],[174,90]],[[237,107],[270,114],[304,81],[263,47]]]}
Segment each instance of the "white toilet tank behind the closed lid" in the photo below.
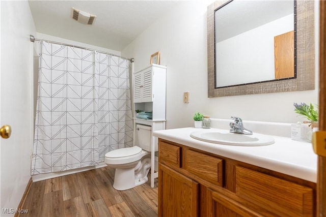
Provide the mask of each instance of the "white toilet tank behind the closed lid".
{"label": "white toilet tank behind the closed lid", "polygon": [[[135,129],[134,145],[141,147],[146,151],[151,151],[152,127],[147,125],[137,124]],[[155,145],[157,151],[157,144]]]}

